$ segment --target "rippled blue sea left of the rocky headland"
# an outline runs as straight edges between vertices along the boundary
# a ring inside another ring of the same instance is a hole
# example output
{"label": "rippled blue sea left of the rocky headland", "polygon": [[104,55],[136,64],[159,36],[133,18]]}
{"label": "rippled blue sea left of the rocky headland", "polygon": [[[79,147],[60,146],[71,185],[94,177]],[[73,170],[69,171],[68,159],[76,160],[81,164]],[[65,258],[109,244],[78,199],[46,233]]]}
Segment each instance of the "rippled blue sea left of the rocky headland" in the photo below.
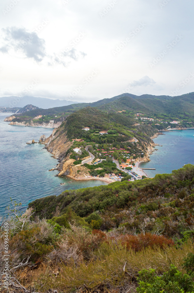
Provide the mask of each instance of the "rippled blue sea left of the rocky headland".
{"label": "rippled blue sea left of the rocky headland", "polygon": [[[42,144],[26,144],[41,135],[50,136],[53,129],[9,125],[3,120],[7,113],[0,113],[0,215],[6,213],[10,197],[22,203],[25,210],[28,203],[48,195],[59,195],[64,190],[107,185],[98,180],[76,181],[55,177],[58,171],[48,171],[58,163]],[[60,185],[60,183],[66,183]]]}

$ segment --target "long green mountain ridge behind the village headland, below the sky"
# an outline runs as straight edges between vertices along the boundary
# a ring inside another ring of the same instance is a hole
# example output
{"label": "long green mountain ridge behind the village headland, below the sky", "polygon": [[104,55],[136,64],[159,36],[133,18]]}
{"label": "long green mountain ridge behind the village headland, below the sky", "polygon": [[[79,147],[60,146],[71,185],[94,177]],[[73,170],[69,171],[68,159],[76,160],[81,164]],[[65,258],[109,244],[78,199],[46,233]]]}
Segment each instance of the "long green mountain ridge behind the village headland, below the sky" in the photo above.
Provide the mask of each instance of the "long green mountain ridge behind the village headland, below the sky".
{"label": "long green mountain ridge behind the village headland, below the sky", "polygon": [[[17,118],[35,117],[37,115],[66,116],[81,108],[95,107],[106,111],[128,110],[133,113],[141,112],[146,115],[166,114],[172,117],[194,117],[194,93],[188,93],[182,96],[135,96],[132,94],[122,94],[110,99],[103,99],[93,103],[78,103],[63,107],[50,109],[36,109],[17,115]],[[182,116],[183,115],[183,116]]]}

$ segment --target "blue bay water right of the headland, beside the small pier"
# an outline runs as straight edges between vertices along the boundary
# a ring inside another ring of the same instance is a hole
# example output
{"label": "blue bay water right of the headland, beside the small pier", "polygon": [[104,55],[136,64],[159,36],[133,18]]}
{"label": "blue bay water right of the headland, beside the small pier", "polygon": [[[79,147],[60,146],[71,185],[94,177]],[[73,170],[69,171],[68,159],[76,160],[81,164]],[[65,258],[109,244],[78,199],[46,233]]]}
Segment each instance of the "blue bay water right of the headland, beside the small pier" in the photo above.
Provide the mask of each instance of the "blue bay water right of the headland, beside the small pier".
{"label": "blue bay water right of the headland, beside the small pier", "polygon": [[156,146],[150,162],[141,163],[141,168],[155,168],[144,170],[148,177],[155,174],[171,173],[172,170],[181,168],[185,164],[194,164],[194,129],[172,130],[164,132],[153,141],[162,147]]}

